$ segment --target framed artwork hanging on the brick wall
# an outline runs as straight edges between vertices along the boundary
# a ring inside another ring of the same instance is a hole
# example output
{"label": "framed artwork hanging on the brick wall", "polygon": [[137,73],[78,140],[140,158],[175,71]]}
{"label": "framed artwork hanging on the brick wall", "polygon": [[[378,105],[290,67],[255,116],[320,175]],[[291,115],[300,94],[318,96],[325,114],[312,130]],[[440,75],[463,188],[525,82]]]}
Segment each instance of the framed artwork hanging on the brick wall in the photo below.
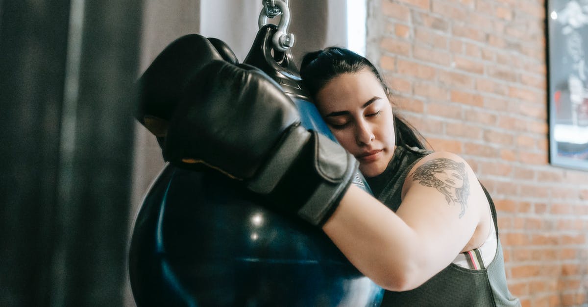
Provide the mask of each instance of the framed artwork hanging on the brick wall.
{"label": "framed artwork hanging on the brick wall", "polygon": [[547,0],[549,161],[588,171],[588,0]]}

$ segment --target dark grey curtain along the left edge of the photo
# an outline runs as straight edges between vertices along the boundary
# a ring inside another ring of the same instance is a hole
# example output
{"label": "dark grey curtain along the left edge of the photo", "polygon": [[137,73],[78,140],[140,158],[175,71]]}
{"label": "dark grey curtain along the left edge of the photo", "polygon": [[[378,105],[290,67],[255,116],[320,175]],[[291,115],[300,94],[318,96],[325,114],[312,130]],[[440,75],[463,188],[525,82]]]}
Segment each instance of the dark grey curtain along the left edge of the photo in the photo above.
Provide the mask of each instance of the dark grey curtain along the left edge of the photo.
{"label": "dark grey curtain along the left edge of the photo", "polygon": [[141,0],[0,2],[0,305],[121,306]]}

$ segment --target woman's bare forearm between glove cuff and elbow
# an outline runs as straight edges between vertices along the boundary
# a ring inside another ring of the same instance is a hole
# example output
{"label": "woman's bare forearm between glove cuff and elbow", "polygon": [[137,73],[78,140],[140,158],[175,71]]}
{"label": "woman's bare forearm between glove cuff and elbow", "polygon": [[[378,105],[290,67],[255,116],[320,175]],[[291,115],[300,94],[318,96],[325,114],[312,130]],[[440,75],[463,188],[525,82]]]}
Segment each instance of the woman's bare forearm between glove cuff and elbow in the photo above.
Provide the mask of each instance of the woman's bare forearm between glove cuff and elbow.
{"label": "woman's bare forearm between glove cuff and elbow", "polygon": [[419,235],[392,210],[355,186],[323,231],[349,261],[383,288],[403,291],[426,281]]}

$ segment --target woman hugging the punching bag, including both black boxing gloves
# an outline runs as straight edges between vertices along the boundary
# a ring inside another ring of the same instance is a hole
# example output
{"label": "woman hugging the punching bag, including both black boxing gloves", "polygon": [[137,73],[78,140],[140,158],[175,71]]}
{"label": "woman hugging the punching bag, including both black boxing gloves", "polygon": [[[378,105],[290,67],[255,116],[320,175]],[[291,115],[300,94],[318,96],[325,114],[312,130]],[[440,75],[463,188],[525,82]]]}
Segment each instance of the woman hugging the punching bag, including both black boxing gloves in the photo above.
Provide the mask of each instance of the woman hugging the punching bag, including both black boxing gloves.
{"label": "woman hugging the punching bag, including both black boxing gloves", "polygon": [[[159,56],[142,77],[183,86],[173,99],[159,98],[168,89],[155,86],[158,95],[145,95],[139,116],[148,127],[153,118],[169,122],[151,127],[165,136],[167,161],[220,171],[270,199],[268,206],[321,227],[388,290],[383,305],[519,305],[506,286],[490,197],[462,158],[425,150],[367,59],[329,48],[302,64],[339,145],[303,128],[268,76],[224,61],[205,38],[191,39],[208,49],[189,69],[170,70],[177,57]],[[377,199],[351,184],[358,163]]]}

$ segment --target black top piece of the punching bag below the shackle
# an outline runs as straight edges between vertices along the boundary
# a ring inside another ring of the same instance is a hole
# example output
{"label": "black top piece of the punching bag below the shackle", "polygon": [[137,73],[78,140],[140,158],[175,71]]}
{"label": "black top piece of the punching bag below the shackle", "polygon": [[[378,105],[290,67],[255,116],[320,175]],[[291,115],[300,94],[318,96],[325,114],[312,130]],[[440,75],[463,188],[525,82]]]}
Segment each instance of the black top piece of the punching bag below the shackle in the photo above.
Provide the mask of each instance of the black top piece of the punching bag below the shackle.
{"label": "black top piece of the punching bag below the shackle", "polygon": [[300,73],[296,68],[290,49],[282,52],[273,48],[272,38],[276,32],[278,32],[276,25],[262,26],[243,63],[261,69],[278,82],[288,96],[310,101],[308,91],[302,88]]}

